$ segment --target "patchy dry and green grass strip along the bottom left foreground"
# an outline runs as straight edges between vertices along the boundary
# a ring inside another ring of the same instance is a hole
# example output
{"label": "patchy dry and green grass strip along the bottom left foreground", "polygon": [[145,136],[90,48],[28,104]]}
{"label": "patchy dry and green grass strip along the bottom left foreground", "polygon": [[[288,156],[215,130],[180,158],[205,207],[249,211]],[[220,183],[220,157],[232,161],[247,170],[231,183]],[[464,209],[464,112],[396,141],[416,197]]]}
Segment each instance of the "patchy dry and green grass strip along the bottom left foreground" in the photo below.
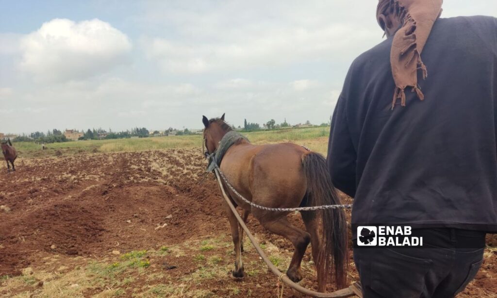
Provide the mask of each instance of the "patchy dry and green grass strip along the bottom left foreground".
{"label": "patchy dry and green grass strip along the bottom left foreground", "polygon": [[[229,235],[222,234],[202,240],[160,246],[157,250],[128,251],[120,256],[112,255],[99,260],[82,257],[74,267],[68,265],[64,272],[52,272],[52,268],[57,266],[50,265],[48,271],[34,268],[32,273],[26,271],[21,276],[0,276],[0,296],[86,297],[91,293],[94,297],[101,298],[220,297],[208,290],[206,285],[226,280],[227,272],[233,269],[233,256],[223,258],[214,254],[224,248],[231,248],[232,243],[228,240],[230,238]],[[202,254],[204,252],[200,248],[204,246],[214,248]],[[191,256],[196,260],[197,268],[190,274],[176,277],[158,270],[157,263],[162,262],[163,256],[167,254],[172,258],[177,251],[182,251],[182,256]],[[279,256],[272,260],[284,267],[287,258]],[[65,259],[60,260],[64,261]],[[156,264],[156,268],[151,262]],[[148,266],[151,267],[147,269]],[[258,259],[249,261],[247,267],[249,270],[246,273],[249,277],[267,272],[265,265]],[[42,287],[39,286],[40,281],[44,282]],[[245,292],[246,289],[237,284],[226,284],[223,290],[226,290],[226,293],[222,297],[251,296],[250,291]]]}

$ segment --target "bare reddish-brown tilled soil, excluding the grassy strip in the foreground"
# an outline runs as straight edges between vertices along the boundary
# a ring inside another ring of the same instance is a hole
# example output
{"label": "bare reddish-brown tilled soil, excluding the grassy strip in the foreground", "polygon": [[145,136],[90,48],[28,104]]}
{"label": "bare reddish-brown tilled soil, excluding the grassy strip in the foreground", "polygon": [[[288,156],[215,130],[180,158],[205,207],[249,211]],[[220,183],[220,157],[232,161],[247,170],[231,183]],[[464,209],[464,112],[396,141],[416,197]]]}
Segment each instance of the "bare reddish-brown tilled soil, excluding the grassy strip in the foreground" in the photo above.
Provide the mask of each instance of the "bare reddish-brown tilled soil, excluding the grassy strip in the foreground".
{"label": "bare reddish-brown tilled soil, excluding the grassy strip in the foreground", "polygon": [[[14,173],[0,171],[0,205],[4,206],[0,210],[0,276],[19,275],[29,266],[43,268],[46,262],[41,260],[49,256],[62,256],[70,263],[68,260],[78,257],[98,259],[115,250],[160,249],[165,243],[223,235],[230,240],[221,197],[212,175],[204,177],[200,150],[81,153],[25,159],[16,165]],[[289,217],[303,226],[297,214]],[[291,256],[289,241],[269,234],[251,217],[248,226],[263,243],[274,244],[284,258]],[[245,242],[250,246],[248,239]],[[495,237],[488,237],[489,245],[496,247],[496,242]],[[149,269],[163,271],[180,283],[199,266],[195,255],[188,253],[151,259]],[[349,276],[357,280],[351,255]],[[226,258],[234,262],[234,256]],[[304,261],[310,260],[308,249]],[[261,263],[253,250],[244,254],[244,261],[246,271],[250,264]],[[165,271],[165,263],[177,268]],[[486,250],[482,269],[459,297],[497,297],[496,264],[496,249]],[[139,279],[134,286],[149,282]],[[276,283],[277,278],[269,272],[247,276],[243,282],[231,280],[226,272],[225,278],[206,280],[195,287],[210,289],[220,297],[274,297]],[[305,273],[302,285],[316,288],[315,276]],[[241,291],[230,290],[234,287]],[[103,290],[94,288],[84,295],[91,297]],[[333,285],[328,290],[334,290]],[[132,293],[122,296],[131,297]],[[300,297],[289,290],[284,296]]]}

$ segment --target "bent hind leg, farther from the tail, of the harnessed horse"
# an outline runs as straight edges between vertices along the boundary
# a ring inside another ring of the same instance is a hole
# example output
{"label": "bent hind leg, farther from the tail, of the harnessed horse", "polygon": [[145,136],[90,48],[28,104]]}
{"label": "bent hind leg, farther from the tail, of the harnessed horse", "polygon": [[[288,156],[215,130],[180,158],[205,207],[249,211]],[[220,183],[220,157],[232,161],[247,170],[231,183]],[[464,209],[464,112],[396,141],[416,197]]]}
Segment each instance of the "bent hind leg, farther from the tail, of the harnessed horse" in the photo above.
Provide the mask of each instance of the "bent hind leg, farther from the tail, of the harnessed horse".
{"label": "bent hind leg, farther from the tail, of the harnessed horse", "polygon": [[307,245],[311,242],[311,235],[308,232],[301,230],[290,224],[286,216],[282,216],[275,220],[261,221],[260,224],[264,226],[269,231],[283,236],[290,240],[295,247],[293,252],[292,261],[290,266],[288,266],[288,271],[286,275],[293,281],[299,282],[302,280],[302,271],[300,269],[300,263],[302,262],[302,257],[306,252]]}

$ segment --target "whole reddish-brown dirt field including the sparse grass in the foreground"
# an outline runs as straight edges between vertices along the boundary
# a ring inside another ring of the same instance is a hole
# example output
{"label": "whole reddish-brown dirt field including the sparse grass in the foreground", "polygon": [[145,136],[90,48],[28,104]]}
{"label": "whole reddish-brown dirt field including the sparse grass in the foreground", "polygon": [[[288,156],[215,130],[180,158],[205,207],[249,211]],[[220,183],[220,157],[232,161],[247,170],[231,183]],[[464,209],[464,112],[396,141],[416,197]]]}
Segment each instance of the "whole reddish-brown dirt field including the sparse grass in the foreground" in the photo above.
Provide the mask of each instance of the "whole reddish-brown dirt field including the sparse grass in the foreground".
{"label": "whole reddish-brown dirt field including the sparse grass in the foreground", "polygon": [[[247,277],[232,281],[233,245],[200,149],[20,160],[0,171],[1,297],[275,297],[277,278],[246,238]],[[300,216],[289,216],[300,223]],[[293,248],[249,228],[286,270]],[[489,237],[488,243],[497,247]],[[497,297],[497,249],[459,297]],[[302,285],[316,288],[310,249]],[[357,280],[352,258],[350,281]],[[333,290],[330,285],[329,291]],[[301,297],[288,288],[284,297]]]}

